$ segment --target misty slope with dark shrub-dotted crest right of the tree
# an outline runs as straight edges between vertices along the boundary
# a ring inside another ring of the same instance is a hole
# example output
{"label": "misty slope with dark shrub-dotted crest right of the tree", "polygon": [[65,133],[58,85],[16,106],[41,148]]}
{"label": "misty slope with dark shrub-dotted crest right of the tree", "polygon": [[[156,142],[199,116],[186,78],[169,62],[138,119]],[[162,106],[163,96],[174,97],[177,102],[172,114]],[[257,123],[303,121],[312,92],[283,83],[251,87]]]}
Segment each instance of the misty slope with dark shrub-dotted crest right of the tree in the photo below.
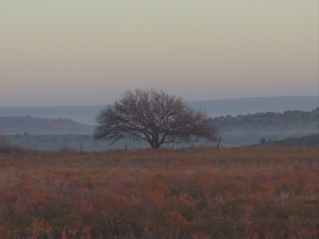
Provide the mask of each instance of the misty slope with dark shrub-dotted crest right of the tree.
{"label": "misty slope with dark shrub-dotted crest right of the tree", "polygon": [[224,146],[249,145],[259,143],[261,139],[269,142],[318,133],[319,108],[310,112],[288,110],[283,113],[221,116],[213,122],[219,128]]}

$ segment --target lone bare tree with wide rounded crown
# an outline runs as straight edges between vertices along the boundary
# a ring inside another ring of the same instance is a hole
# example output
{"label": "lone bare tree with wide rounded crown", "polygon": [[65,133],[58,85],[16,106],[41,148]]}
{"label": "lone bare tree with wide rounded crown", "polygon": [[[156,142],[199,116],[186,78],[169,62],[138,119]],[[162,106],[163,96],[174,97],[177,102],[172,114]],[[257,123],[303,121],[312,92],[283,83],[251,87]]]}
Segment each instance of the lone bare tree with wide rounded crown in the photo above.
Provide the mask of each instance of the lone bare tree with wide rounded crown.
{"label": "lone bare tree with wide rounded crown", "polygon": [[206,114],[189,108],[181,99],[155,89],[127,91],[96,118],[94,138],[141,139],[158,148],[163,143],[217,141],[218,130]]}

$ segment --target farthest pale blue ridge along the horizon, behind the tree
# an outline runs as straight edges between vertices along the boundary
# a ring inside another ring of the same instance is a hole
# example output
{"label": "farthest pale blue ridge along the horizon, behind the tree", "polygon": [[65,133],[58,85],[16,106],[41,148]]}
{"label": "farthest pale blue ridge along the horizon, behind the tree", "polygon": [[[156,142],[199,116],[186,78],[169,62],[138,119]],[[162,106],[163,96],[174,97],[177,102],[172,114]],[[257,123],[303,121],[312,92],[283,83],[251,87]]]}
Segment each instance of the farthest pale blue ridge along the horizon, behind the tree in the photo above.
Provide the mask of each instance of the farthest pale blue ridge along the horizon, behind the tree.
{"label": "farthest pale blue ridge along the horizon, behind the tree", "polygon": [[[188,104],[206,111],[210,117],[237,116],[259,112],[284,112],[288,110],[311,111],[319,106],[319,96],[257,97],[212,101],[190,101]],[[95,116],[105,108],[100,106],[62,107],[0,107],[0,117],[38,117],[72,119],[80,123],[95,124]]]}

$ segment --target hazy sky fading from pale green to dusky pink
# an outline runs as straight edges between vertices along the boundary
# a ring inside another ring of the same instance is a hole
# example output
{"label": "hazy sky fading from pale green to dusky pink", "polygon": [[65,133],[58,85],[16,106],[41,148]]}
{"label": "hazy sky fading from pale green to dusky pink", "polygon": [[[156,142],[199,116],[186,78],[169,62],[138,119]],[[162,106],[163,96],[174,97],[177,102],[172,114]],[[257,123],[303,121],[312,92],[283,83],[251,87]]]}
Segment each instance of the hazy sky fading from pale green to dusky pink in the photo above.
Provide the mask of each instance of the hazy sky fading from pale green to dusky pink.
{"label": "hazy sky fading from pale green to dusky pink", "polygon": [[0,107],[319,94],[318,0],[1,0]]}

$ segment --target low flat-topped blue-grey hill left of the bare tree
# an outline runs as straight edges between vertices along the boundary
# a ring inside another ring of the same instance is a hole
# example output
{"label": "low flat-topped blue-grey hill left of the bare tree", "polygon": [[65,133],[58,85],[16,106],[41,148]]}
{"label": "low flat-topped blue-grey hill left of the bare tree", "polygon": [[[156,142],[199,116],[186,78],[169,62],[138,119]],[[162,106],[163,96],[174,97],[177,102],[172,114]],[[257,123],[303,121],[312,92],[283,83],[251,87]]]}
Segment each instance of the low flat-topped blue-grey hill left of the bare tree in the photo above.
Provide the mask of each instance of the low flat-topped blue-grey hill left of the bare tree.
{"label": "low flat-topped blue-grey hill left of the bare tree", "polygon": [[92,134],[94,127],[71,119],[0,117],[1,134]]}

